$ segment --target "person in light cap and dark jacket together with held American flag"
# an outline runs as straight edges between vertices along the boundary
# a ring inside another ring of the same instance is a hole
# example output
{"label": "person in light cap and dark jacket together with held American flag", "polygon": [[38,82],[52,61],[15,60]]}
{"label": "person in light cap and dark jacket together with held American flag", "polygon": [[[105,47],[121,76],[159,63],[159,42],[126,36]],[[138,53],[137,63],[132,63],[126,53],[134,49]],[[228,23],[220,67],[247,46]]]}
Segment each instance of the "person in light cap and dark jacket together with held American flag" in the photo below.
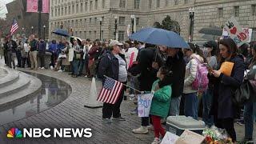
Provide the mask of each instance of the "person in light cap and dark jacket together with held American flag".
{"label": "person in light cap and dark jacket together with held American flag", "polygon": [[120,106],[123,99],[127,81],[126,58],[120,54],[122,43],[117,40],[110,42],[110,50],[102,55],[98,66],[98,78],[102,79],[102,90],[98,95],[98,101],[104,102],[102,108],[102,120],[111,123],[111,117],[115,121],[125,121],[120,114]]}

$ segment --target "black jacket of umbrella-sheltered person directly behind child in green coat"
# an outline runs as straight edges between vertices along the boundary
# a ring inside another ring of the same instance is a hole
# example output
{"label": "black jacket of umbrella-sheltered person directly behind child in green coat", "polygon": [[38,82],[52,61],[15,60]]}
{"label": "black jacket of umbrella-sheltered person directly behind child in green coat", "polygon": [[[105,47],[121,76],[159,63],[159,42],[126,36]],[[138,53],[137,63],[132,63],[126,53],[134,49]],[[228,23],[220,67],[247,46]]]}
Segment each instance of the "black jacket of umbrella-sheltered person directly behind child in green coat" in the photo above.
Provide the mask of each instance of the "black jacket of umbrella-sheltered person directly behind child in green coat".
{"label": "black jacket of umbrella-sheltered person directly behind child in green coat", "polygon": [[170,68],[172,74],[165,80],[158,82],[158,85],[159,87],[171,85],[171,97],[179,97],[182,95],[183,92],[184,78],[186,72],[186,63],[184,61],[182,52],[178,52],[178,54],[174,58],[168,57],[165,66]]}

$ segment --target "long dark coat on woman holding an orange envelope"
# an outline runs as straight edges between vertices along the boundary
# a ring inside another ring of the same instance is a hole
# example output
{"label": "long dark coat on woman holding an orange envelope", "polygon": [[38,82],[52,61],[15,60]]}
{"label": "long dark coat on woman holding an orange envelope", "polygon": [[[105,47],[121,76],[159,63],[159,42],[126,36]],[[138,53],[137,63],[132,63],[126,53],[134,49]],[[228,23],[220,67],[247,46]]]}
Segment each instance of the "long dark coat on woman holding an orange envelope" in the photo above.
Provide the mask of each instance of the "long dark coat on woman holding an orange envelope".
{"label": "long dark coat on woman holding an orange envelope", "polygon": [[237,106],[234,106],[232,98],[234,91],[242,84],[244,70],[246,68],[243,58],[235,56],[229,62],[234,62],[230,77],[221,74],[214,78],[208,74],[209,81],[214,83],[214,101],[210,113],[218,118],[234,118]]}

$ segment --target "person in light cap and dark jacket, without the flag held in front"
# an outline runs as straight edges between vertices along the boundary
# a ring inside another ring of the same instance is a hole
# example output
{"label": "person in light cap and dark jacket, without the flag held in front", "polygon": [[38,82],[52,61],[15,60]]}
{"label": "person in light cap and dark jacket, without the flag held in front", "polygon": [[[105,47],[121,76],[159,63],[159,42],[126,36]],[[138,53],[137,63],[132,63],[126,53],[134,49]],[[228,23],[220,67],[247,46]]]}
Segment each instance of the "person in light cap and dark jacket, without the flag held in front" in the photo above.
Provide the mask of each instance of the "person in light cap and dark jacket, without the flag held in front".
{"label": "person in light cap and dark jacket, without the flag held in front", "polygon": [[[102,86],[106,77],[113,78],[118,82],[126,83],[127,71],[126,71],[126,60],[124,55],[121,55],[121,45],[122,43],[113,40],[110,42],[110,52],[106,52],[101,58],[101,62],[98,66],[98,77],[102,79]],[[121,117],[120,106],[122,103],[122,98],[125,88],[123,87],[118,100],[115,104],[103,103],[102,108],[102,119],[103,122],[111,123],[111,116],[113,114],[113,119],[118,121],[124,121],[125,119]]]}

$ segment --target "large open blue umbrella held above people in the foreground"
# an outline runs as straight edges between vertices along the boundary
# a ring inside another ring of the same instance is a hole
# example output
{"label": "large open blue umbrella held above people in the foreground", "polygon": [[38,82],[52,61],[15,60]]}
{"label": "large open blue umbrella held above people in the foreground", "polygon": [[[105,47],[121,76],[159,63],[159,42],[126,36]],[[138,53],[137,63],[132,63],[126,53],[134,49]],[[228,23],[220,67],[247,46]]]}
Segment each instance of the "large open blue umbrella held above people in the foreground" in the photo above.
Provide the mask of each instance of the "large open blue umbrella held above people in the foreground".
{"label": "large open blue umbrella held above people in the foreground", "polygon": [[152,27],[139,30],[134,34],[131,34],[129,38],[139,42],[146,42],[172,48],[190,48],[184,39],[173,31]]}

